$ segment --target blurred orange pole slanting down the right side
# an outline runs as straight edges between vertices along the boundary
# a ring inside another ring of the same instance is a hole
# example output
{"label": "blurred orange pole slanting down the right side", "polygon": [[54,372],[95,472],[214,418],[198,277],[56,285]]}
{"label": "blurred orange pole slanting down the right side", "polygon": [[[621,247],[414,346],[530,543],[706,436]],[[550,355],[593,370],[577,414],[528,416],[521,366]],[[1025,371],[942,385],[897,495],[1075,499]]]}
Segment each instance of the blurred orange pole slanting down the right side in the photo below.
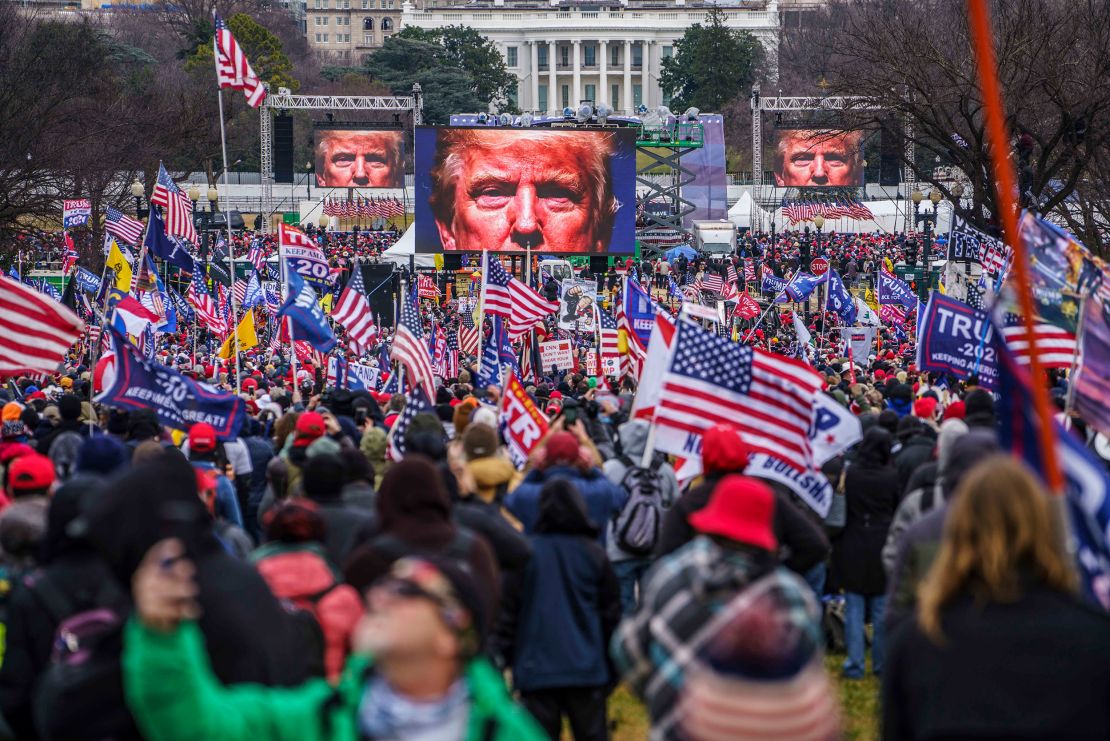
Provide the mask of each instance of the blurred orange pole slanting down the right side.
{"label": "blurred orange pole slanting down the right side", "polygon": [[[1018,283],[1018,298],[1021,305],[1025,341],[1029,347],[1037,347],[1033,331],[1033,295],[1029,278],[1029,256],[1018,236],[1018,191],[1013,161],[1010,159],[1010,134],[1006,128],[1006,112],[1002,106],[1002,91],[998,83],[998,62],[995,59],[995,40],[990,28],[990,9],[987,0],[968,0],[968,20],[971,41],[975,47],[976,65],[979,70],[979,88],[982,91],[987,114],[987,136],[990,141],[990,163],[997,184],[998,214],[1002,221],[1002,236],[1013,250],[1013,272]],[[1056,454],[1056,430],[1052,427],[1052,408],[1048,388],[1042,383],[1041,364],[1037,353],[1029,353],[1029,370],[1032,376],[1033,408],[1040,418],[1039,436],[1041,455],[1045,456],[1045,479],[1051,491],[1063,491],[1063,474]]]}

